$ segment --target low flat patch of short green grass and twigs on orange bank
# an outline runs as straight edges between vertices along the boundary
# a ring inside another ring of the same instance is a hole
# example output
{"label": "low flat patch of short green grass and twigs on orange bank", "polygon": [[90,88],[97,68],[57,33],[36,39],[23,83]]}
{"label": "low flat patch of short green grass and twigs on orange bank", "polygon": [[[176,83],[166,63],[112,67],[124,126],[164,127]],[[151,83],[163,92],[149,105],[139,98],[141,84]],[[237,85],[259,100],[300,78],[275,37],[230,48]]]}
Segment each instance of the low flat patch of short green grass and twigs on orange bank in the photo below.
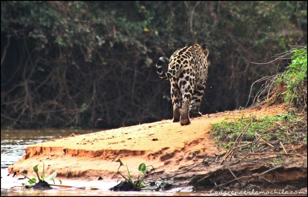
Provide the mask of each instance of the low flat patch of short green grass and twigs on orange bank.
{"label": "low flat patch of short green grass and twigs on orange bank", "polygon": [[[214,135],[214,141],[220,144],[224,149],[232,146],[239,133],[249,124],[251,118],[244,119],[243,117],[228,122],[226,119],[212,124],[210,133]],[[290,143],[291,140],[307,141],[306,132],[298,132],[298,119],[295,115],[281,113],[276,116],[266,116],[263,118],[254,118],[251,125],[248,127],[245,135],[242,138],[243,142],[253,142],[257,139],[256,134],[263,135],[265,141],[275,142],[280,140],[284,143]],[[286,137],[286,138],[284,138]],[[289,140],[288,140],[289,139]],[[254,146],[254,145],[252,145]],[[253,148],[253,147],[249,148]]]}

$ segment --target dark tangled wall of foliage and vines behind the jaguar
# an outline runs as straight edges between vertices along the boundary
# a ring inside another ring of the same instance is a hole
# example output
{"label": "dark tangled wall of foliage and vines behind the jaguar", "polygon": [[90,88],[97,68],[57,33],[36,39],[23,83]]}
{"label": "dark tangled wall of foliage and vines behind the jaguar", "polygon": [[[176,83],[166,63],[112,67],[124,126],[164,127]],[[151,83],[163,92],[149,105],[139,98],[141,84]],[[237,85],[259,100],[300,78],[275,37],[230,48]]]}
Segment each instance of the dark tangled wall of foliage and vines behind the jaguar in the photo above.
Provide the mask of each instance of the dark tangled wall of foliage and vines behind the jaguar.
{"label": "dark tangled wall of foliage and vines behind the jaguar", "polygon": [[[1,2],[1,124],[119,127],[172,117],[154,64],[207,47],[201,113],[245,104],[271,56],[307,42],[307,2]],[[279,67],[278,71],[283,71]]]}

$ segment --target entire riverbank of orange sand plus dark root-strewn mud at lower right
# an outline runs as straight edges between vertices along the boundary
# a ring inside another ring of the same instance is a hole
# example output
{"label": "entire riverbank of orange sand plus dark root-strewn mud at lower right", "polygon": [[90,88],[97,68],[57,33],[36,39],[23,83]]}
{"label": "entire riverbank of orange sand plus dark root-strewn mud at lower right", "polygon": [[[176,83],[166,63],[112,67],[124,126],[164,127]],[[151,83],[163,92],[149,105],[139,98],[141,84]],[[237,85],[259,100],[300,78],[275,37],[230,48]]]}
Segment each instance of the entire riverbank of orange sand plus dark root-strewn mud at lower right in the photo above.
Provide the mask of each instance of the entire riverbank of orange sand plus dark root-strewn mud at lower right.
{"label": "entire riverbank of orange sand plus dark root-strewn mud at lower right", "polygon": [[[245,189],[245,187],[248,189],[253,186],[259,189],[271,189],[285,188],[287,185],[292,189],[296,185],[295,189],[303,188],[305,184],[307,185],[304,181],[307,180],[307,160],[303,157],[294,156],[290,159],[286,157],[281,167],[269,172],[266,172],[270,169],[268,166],[256,162],[233,164],[231,160],[229,166],[215,162],[217,156],[224,151],[219,150],[217,144],[213,142],[213,137],[209,133],[211,124],[224,119],[232,121],[238,117],[252,115],[265,117],[280,113],[286,113],[283,104],[204,115],[192,119],[191,124],[186,126],[180,126],[172,120],[164,120],[97,133],[72,135],[28,146],[23,158],[8,169],[10,174],[26,169],[28,175],[34,176],[31,174],[33,166],[39,165],[42,169],[40,162],[42,160],[47,175],[56,171],[57,177],[69,179],[98,180],[102,177],[104,180],[116,181],[123,178],[117,174],[119,163],[111,161],[123,150],[117,158],[124,164],[127,163],[133,177],[138,176],[140,163],[152,165],[154,170],[149,171],[147,179],[149,181],[164,179],[172,182],[163,187],[165,190],[187,187],[208,190],[224,183],[226,184],[221,188],[225,189]],[[305,150],[306,146],[298,151]],[[263,159],[274,156],[268,155]],[[127,173],[124,168],[121,170],[123,174]],[[235,178],[230,171],[237,178],[242,176],[247,178],[241,179],[241,183],[232,181]],[[264,172],[266,173],[262,174]],[[259,178],[260,174],[262,179]],[[245,185],[252,178],[255,179]],[[231,182],[227,183],[229,181]]]}

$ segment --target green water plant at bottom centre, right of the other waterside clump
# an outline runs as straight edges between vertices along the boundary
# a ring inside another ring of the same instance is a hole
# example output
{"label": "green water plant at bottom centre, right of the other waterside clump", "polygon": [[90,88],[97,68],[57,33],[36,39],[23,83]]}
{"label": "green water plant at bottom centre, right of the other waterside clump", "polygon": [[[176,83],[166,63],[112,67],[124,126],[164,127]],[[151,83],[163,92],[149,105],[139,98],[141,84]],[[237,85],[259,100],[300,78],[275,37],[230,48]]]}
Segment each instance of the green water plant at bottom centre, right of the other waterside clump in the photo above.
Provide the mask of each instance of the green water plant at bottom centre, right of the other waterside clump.
{"label": "green water plant at bottom centre, right of the other waterside clump", "polygon": [[118,168],[118,173],[125,179],[126,182],[128,182],[130,185],[131,185],[131,190],[132,191],[140,191],[140,190],[151,190],[151,191],[158,191],[160,189],[160,187],[157,187],[157,185],[155,184],[156,188],[147,188],[151,183],[147,183],[144,181],[143,178],[140,178],[140,174],[145,174],[145,172],[147,171],[147,167],[144,163],[141,163],[138,167],[138,170],[139,170],[139,174],[138,174],[138,178],[137,180],[133,180],[132,179],[132,176],[128,170],[128,166],[126,165],[126,168],[127,168],[127,172],[128,172],[128,178],[125,177],[123,174],[120,173],[120,167],[121,166],[124,166],[124,163],[118,159],[116,160],[116,162],[120,162],[120,166]]}

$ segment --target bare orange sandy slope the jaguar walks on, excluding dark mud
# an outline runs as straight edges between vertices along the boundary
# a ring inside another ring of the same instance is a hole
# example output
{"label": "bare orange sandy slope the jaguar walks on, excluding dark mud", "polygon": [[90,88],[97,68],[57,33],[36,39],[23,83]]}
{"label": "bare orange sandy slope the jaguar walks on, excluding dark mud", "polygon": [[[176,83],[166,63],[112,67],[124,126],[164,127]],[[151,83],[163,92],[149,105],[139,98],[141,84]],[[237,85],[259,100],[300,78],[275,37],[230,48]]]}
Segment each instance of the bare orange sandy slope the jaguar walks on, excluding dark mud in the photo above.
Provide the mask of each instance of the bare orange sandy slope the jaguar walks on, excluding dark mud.
{"label": "bare orange sandy slope the jaguar walks on, excluding dark mud", "polygon": [[[164,170],[164,173],[170,174],[194,165],[192,158],[196,154],[221,154],[209,133],[211,124],[224,119],[232,121],[241,116],[265,117],[279,113],[286,113],[284,104],[203,115],[191,119],[191,124],[186,126],[163,120],[51,140],[28,146],[23,158],[9,167],[9,173],[26,169],[30,174],[35,165],[42,169],[42,160],[47,175],[56,171],[58,177],[122,179],[116,173],[119,163],[111,161],[124,149],[117,159],[127,163],[132,176],[138,175],[141,163],[152,165],[155,171]],[[126,167],[120,170],[127,172]]]}

